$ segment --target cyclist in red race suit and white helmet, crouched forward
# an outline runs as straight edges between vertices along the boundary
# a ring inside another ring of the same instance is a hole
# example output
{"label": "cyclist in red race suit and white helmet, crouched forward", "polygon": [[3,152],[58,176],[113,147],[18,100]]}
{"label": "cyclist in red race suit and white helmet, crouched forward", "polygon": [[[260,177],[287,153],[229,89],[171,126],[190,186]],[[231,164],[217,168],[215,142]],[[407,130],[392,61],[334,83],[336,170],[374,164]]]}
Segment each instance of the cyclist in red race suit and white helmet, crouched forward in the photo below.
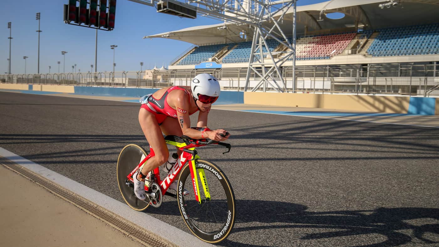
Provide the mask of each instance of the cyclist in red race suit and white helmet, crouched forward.
{"label": "cyclist in red race suit and white helmet, crouched forward", "polygon": [[[191,87],[165,87],[140,99],[142,102],[139,111],[140,127],[155,156],[144,164],[141,171],[133,175],[134,193],[137,198],[140,200],[146,199],[144,185],[145,182],[148,185],[151,182],[149,181],[151,171],[162,164],[169,171],[172,166],[167,167],[167,163],[176,162],[175,159],[172,159],[172,156],[169,157],[163,134],[187,135],[194,139],[209,138],[218,142],[227,140],[230,137],[230,134],[221,136],[221,134],[227,134],[227,131],[223,129],[212,131],[207,127],[207,116],[212,103],[218,99],[219,93],[218,80],[212,75],[203,73],[194,77],[191,81]],[[189,116],[197,111],[200,111],[197,127],[202,127],[202,131],[191,128]],[[179,156],[181,153],[182,151],[177,149]],[[177,191],[177,182],[173,182],[169,185],[169,188]]]}

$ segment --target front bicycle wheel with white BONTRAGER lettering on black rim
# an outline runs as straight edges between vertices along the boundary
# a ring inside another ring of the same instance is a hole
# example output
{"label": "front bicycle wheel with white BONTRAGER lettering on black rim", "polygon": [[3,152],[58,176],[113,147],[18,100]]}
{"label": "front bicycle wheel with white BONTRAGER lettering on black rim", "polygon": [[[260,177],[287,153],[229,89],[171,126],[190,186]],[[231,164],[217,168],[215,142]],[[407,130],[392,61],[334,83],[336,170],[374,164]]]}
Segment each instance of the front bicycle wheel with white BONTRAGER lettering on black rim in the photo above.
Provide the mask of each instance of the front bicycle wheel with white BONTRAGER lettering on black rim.
{"label": "front bicycle wheel with white BONTRAGER lettering on black rim", "polygon": [[[199,239],[208,243],[218,243],[227,238],[235,221],[235,195],[223,171],[208,160],[195,160],[198,181],[197,193],[201,201],[195,199],[191,177],[192,163],[183,167],[178,180],[177,203],[187,227]],[[183,196],[184,189],[189,191]]]}

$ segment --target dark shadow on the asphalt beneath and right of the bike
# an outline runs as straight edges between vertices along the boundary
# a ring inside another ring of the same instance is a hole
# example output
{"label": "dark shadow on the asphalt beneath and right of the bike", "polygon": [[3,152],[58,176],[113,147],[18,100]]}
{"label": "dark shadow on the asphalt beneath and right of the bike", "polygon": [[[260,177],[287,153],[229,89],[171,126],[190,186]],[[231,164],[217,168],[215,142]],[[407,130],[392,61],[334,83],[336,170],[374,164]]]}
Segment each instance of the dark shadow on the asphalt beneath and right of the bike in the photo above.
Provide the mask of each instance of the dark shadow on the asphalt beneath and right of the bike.
{"label": "dark shadow on the asphalt beneath and right of the bike", "polygon": [[[230,236],[237,232],[251,232],[255,230],[274,230],[284,229],[327,229],[327,231],[317,233],[304,233],[300,240],[317,240],[333,238],[337,241],[338,237],[360,236],[365,234],[379,234],[387,240],[370,244],[354,246],[384,247],[399,246],[403,244],[437,244],[438,240],[431,240],[428,234],[439,234],[439,224],[429,224],[428,222],[439,222],[439,208],[423,207],[380,207],[374,210],[362,211],[325,211],[310,212],[307,207],[300,204],[273,202],[263,200],[237,200],[237,223],[257,222],[257,226],[234,227]],[[151,214],[176,214],[175,202],[169,201],[162,204],[158,209],[147,211]],[[411,233],[402,232],[410,230]],[[315,232],[315,231],[313,231]],[[248,233],[249,236],[251,233]],[[270,243],[270,235],[261,236]],[[230,239],[230,237],[229,237]],[[373,239],[373,237],[372,237]],[[437,239],[437,238],[436,238]],[[359,237],[359,241],[362,238]],[[311,243],[310,243],[311,244]],[[261,246],[239,243],[231,240],[224,240],[219,246],[250,247]],[[267,245],[270,246],[270,245]],[[288,246],[286,243],[285,246]]]}

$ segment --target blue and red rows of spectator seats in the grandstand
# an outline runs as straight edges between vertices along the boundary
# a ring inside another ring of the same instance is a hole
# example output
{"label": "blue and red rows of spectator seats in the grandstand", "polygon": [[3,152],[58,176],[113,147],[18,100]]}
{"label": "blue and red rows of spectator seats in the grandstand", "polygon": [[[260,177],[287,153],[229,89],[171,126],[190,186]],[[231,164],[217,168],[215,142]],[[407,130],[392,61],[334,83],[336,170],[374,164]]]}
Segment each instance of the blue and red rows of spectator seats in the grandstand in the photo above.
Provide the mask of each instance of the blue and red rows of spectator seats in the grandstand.
{"label": "blue and red rows of spectator seats in the grandstand", "polygon": [[[373,33],[377,35],[371,38]],[[358,44],[362,43],[371,44],[363,52],[365,57],[368,55],[386,57],[439,54],[439,24],[367,30],[358,33],[358,38],[356,36],[357,33],[354,32],[299,36],[296,43],[296,59],[331,59],[341,54],[356,54]],[[358,40],[362,40],[362,42],[360,43]],[[357,47],[348,49],[349,43],[357,44]],[[268,40],[268,44],[272,52],[284,48],[276,40]],[[216,59],[216,61],[222,63],[248,62],[251,47],[252,42],[199,46],[173,65],[198,65],[201,62],[212,61],[220,49],[226,49],[228,52],[222,59]],[[265,47],[263,51],[267,51]]]}

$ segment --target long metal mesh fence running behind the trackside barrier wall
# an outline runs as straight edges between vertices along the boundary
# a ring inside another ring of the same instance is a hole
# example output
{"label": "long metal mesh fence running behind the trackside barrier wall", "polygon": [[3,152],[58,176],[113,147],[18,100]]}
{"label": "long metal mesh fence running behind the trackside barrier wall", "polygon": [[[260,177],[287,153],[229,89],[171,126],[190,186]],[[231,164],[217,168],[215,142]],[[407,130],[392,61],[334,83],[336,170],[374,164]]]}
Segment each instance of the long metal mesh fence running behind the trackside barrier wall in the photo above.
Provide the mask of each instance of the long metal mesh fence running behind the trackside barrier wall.
{"label": "long metal mesh fence running behind the trackside barrier wall", "polygon": [[[161,88],[190,86],[192,78],[201,73],[216,76],[223,90],[243,91],[247,86],[247,91],[277,91],[277,84],[287,92],[439,95],[439,65],[436,62],[296,66],[295,84],[291,66],[281,68],[283,81],[281,78],[269,78],[263,84],[259,84],[261,78],[254,71],[251,71],[246,84],[247,68],[11,74],[0,75],[0,82]],[[258,73],[264,74],[264,69],[259,68]]]}

